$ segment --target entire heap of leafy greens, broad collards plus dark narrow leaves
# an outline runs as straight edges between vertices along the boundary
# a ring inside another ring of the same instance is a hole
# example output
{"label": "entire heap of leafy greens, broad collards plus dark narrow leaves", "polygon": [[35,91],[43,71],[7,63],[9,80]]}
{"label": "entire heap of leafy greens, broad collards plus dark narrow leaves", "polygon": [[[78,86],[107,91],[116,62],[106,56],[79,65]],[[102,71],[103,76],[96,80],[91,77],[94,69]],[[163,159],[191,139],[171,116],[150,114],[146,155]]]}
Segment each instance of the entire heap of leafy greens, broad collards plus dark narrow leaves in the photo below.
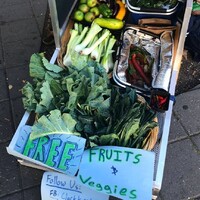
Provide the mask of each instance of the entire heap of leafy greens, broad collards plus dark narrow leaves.
{"label": "entire heap of leafy greens, broad collards plus dark narrow leaves", "polygon": [[87,148],[116,145],[143,148],[158,126],[155,113],[138,101],[135,90],[110,84],[105,69],[95,61],[66,69],[50,64],[44,54],[33,54],[30,76],[22,88],[24,108],[36,113],[31,138],[74,134],[87,139]]}

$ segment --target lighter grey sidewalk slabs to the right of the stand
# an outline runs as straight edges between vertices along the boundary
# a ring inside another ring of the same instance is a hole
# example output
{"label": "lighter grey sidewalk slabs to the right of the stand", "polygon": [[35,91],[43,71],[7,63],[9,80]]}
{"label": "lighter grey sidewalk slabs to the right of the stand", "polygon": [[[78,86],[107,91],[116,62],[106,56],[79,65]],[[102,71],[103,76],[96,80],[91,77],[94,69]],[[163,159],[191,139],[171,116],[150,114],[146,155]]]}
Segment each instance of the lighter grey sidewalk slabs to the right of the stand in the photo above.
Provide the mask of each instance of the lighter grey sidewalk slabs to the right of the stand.
{"label": "lighter grey sidewalk slabs to the right of the stand", "polygon": [[159,200],[200,199],[200,85],[176,97]]}

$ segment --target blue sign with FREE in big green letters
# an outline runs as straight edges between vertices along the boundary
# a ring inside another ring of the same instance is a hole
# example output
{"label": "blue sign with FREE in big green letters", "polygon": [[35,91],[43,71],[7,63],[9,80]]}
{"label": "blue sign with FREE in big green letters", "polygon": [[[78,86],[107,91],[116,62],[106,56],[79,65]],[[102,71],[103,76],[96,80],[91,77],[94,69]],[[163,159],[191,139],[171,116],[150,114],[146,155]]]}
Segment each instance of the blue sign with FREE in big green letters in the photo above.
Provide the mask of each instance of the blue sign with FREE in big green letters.
{"label": "blue sign with FREE in big green letters", "polygon": [[69,134],[54,134],[30,140],[31,126],[23,126],[14,150],[54,170],[75,175],[86,140]]}

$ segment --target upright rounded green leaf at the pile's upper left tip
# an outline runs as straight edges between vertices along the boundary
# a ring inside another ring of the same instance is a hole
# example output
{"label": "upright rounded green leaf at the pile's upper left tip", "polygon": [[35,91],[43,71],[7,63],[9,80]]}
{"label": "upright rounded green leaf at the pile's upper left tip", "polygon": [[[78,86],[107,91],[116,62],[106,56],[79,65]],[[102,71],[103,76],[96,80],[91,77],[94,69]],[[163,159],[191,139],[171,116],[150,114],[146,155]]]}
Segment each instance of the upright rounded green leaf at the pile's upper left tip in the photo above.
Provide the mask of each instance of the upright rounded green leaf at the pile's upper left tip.
{"label": "upright rounded green leaf at the pile's upper left tip", "polygon": [[29,72],[30,76],[33,78],[43,79],[45,75],[45,70],[43,68],[42,58],[44,54],[33,54],[30,59]]}

